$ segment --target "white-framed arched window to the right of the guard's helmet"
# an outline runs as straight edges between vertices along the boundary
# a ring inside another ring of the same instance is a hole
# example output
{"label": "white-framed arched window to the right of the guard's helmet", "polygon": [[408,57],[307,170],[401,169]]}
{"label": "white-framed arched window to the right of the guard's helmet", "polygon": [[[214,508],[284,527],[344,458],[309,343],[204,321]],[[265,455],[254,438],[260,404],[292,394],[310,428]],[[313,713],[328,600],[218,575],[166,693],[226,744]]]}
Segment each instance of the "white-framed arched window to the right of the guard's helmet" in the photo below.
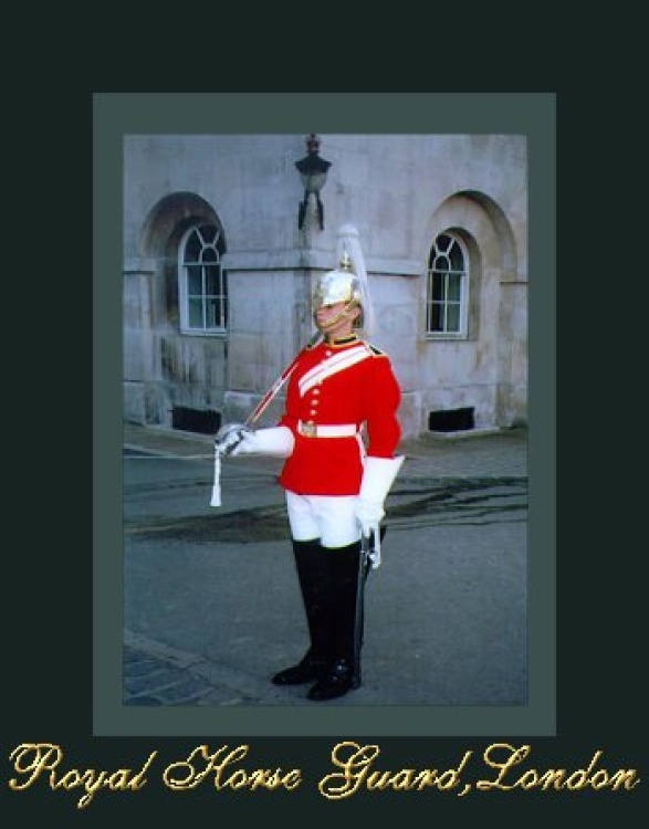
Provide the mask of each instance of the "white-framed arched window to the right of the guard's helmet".
{"label": "white-framed arched window to the right of the guard's helmet", "polygon": [[440,233],[428,261],[426,333],[436,337],[467,336],[468,256],[460,240]]}

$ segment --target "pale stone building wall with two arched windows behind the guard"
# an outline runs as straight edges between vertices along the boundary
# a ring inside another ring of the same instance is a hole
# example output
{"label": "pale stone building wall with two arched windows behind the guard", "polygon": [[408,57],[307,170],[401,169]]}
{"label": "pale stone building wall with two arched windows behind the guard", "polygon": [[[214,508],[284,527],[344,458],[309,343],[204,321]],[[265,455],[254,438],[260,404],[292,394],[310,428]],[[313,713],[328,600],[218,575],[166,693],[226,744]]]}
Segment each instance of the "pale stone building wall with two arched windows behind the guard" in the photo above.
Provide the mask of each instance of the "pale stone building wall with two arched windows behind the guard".
{"label": "pale stone building wall with two arched windows behind the guard", "polygon": [[[308,155],[304,135],[124,137],[125,420],[244,420],[313,334],[352,223],[404,437],[525,424],[526,137],[318,138]],[[314,157],[322,214],[296,167]]]}

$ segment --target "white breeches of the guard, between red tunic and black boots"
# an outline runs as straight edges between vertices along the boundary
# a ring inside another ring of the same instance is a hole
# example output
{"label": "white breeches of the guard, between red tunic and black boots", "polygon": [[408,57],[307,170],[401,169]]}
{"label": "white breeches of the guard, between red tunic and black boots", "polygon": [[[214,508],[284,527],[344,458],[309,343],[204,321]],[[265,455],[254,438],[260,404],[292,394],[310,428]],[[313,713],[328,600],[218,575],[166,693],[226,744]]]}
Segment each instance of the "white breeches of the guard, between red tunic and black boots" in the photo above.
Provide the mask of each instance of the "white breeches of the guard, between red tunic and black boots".
{"label": "white breeches of the guard, between red tunic and black boots", "polygon": [[291,535],[296,542],[320,538],[323,547],[346,547],[360,538],[357,495],[296,495],[286,491]]}

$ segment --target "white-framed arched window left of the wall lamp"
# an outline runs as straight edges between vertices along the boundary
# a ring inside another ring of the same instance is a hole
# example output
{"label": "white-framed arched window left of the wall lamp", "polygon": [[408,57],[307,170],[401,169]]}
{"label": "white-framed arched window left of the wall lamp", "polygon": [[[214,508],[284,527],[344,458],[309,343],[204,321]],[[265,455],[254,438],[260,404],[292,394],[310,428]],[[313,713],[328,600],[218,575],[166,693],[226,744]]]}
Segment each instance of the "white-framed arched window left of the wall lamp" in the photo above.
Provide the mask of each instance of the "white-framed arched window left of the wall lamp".
{"label": "white-framed arched window left of the wall lamp", "polygon": [[228,274],[218,228],[190,228],[178,248],[180,330],[184,334],[223,334],[228,327]]}

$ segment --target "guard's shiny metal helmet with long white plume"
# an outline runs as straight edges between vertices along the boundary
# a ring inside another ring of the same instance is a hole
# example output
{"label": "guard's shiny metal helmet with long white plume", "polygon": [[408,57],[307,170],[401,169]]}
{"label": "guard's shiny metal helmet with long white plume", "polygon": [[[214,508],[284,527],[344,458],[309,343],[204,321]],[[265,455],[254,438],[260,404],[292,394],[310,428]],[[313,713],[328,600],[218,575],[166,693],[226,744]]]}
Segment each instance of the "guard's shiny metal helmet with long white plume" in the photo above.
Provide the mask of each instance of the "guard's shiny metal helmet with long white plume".
{"label": "guard's shiny metal helmet with long white plume", "polygon": [[314,308],[341,302],[347,303],[349,307],[359,306],[362,314],[356,327],[363,328],[370,336],[374,312],[358,230],[353,224],[343,224],[338,230],[338,267],[320,277],[313,295]]}

